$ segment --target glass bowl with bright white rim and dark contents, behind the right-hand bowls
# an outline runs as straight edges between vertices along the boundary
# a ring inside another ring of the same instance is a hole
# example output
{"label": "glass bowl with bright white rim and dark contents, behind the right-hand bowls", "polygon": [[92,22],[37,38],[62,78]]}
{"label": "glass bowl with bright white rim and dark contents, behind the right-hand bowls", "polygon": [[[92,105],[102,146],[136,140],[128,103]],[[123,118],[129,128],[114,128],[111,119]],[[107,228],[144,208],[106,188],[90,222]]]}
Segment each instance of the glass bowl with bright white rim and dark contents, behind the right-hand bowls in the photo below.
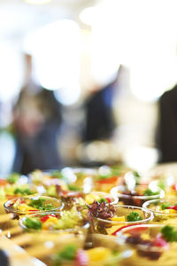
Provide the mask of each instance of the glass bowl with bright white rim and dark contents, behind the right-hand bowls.
{"label": "glass bowl with bright white rim and dark contents, behind the right-hand bowls", "polygon": [[[137,185],[135,189],[138,191],[138,189],[146,190],[149,188],[147,185]],[[113,196],[117,196],[119,198],[119,202],[124,203],[125,205],[132,205],[132,206],[138,206],[142,207],[142,204],[147,200],[154,200],[154,199],[162,199],[165,197],[165,192],[160,189],[156,188],[159,192],[157,195],[152,196],[134,196],[134,195],[128,195],[124,194],[124,192],[127,192],[127,186],[126,185],[119,185],[114,188],[112,188],[111,194]]]}

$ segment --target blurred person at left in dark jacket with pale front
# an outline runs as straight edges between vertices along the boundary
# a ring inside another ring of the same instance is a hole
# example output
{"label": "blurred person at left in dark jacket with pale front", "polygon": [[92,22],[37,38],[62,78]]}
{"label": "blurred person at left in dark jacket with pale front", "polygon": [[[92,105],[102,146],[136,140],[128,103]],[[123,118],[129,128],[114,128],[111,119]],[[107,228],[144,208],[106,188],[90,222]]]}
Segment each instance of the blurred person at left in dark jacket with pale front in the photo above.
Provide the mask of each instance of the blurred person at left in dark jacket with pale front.
{"label": "blurred person at left in dark jacket with pale front", "polygon": [[32,57],[26,54],[25,58],[26,84],[13,108],[16,156],[12,169],[24,175],[36,168],[60,166],[58,132],[61,125],[61,106],[53,91],[35,83]]}

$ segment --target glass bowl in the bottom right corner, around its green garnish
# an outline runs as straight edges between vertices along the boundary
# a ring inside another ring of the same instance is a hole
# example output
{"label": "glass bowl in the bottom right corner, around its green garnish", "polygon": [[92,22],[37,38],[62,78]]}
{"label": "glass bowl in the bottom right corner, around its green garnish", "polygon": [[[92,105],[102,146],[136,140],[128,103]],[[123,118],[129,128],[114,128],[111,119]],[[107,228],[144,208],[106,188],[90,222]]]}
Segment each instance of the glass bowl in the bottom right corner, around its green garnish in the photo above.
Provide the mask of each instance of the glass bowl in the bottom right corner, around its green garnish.
{"label": "glass bowl in the bottom right corner, around its green garnish", "polygon": [[[150,240],[155,239],[160,233],[164,224],[140,224],[122,229],[117,234],[117,242],[119,245],[133,248],[135,254],[126,260],[126,265],[132,266],[176,266],[176,242],[170,243],[169,246],[148,246],[145,244],[132,244],[132,239],[128,241],[128,237],[149,235]],[[175,225],[175,230],[177,226]],[[148,241],[148,239],[147,239]],[[131,244],[129,244],[131,242]]]}

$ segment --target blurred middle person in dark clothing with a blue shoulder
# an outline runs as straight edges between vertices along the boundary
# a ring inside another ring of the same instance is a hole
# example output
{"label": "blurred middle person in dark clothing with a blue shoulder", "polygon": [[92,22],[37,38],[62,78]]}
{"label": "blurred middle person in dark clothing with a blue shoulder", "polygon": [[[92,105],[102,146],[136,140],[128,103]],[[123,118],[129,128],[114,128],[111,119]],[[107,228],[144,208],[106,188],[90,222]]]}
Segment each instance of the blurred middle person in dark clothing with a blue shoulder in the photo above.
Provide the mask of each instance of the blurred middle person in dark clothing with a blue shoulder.
{"label": "blurred middle person in dark clothing with a blue shoulder", "polygon": [[83,141],[108,140],[116,128],[112,111],[112,102],[118,88],[119,72],[114,80],[103,88],[94,90],[85,103],[86,121]]}

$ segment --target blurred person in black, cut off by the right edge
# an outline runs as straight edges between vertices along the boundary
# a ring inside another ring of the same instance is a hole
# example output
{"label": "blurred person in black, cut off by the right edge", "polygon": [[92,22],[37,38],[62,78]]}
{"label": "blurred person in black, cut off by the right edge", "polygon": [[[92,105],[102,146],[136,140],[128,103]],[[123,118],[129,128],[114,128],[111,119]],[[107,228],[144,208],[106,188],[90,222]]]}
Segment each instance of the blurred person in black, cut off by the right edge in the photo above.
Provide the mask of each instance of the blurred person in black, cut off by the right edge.
{"label": "blurred person in black, cut off by the right edge", "polygon": [[177,85],[159,98],[158,111],[159,162],[177,161]]}

